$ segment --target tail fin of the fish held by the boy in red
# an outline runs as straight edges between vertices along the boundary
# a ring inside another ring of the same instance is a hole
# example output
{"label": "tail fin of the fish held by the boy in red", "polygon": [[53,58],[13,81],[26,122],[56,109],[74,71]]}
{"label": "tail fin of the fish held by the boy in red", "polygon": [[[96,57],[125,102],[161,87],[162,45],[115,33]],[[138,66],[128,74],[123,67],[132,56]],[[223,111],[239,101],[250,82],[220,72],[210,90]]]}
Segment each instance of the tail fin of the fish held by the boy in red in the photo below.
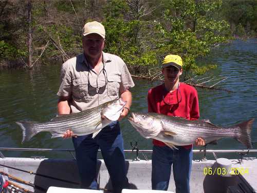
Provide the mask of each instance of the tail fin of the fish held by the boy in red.
{"label": "tail fin of the fish held by the boy in red", "polygon": [[238,142],[244,144],[248,149],[252,148],[251,130],[253,120],[254,119],[252,118],[235,126],[238,128],[238,130],[235,133],[235,139]]}

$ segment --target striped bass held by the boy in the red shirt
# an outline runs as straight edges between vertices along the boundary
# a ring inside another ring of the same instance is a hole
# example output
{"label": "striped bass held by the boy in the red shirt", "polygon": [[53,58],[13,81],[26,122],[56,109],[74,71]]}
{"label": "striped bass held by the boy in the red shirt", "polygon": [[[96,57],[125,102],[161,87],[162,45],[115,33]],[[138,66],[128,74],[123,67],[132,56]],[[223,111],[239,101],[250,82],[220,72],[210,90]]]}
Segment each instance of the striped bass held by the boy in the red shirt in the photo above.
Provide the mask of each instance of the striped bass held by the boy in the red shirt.
{"label": "striped bass held by the boy in the red shirt", "polygon": [[231,127],[218,127],[209,120],[187,120],[157,113],[132,113],[128,120],[143,137],[157,139],[171,148],[194,144],[198,137],[205,139],[206,144],[233,137],[252,148],[250,133],[254,119]]}

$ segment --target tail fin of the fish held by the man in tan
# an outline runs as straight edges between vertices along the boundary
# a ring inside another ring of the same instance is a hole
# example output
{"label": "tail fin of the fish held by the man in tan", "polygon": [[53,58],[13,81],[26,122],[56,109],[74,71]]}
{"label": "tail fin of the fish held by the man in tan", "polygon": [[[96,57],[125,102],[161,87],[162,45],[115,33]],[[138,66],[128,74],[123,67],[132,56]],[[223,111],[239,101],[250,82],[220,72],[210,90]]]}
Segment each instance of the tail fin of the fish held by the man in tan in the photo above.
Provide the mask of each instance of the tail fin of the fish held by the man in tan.
{"label": "tail fin of the fish held by the man in tan", "polygon": [[38,131],[36,131],[36,129],[34,128],[36,123],[37,122],[35,121],[27,121],[27,120],[16,122],[16,124],[18,124],[23,131],[22,144],[24,142],[29,141],[29,139],[31,139],[36,133],[38,133]]}

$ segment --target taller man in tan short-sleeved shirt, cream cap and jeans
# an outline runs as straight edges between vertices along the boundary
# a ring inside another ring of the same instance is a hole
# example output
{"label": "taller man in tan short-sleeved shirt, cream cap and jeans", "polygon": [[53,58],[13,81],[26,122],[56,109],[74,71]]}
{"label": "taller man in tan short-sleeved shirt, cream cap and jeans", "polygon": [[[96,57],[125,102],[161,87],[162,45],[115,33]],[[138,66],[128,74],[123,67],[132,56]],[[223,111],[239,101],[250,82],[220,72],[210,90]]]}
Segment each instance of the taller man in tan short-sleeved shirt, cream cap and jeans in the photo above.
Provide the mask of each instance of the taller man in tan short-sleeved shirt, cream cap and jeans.
{"label": "taller man in tan short-sleeved shirt, cream cap and jeans", "polygon": [[[120,119],[130,110],[134,86],[124,61],[103,52],[105,29],[99,22],[88,22],[82,32],[83,53],[67,60],[61,69],[61,85],[57,95],[58,113],[77,113],[94,108],[121,97],[126,101]],[[120,120],[119,119],[119,120]],[[67,131],[64,138],[72,136]],[[101,149],[105,165],[111,177],[113,192],[120,193],[127,187],[123,137],[119,121],[102,129],[95,138],[92,134],[72,137],[76,150],[81,185],[97,189],[97,152]]]}

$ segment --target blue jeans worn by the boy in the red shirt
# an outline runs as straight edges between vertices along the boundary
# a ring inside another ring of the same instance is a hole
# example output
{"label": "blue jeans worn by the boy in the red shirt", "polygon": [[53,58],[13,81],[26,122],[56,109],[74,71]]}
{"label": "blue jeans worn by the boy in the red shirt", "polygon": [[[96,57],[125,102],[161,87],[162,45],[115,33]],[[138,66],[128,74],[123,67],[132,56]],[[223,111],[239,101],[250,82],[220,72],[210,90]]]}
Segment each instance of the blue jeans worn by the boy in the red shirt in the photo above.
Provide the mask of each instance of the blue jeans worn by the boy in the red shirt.
{"label": "blue jeans worn by the boy in the red shirt", "polygon": [[152,189],[168,190],[173,164],[173,176],[176,185],[176,193],[189,193],[189,179],[192,166],[192,148],[185,149],[176,146],[171,149],[168,146],[153,146],[152,154]]}

